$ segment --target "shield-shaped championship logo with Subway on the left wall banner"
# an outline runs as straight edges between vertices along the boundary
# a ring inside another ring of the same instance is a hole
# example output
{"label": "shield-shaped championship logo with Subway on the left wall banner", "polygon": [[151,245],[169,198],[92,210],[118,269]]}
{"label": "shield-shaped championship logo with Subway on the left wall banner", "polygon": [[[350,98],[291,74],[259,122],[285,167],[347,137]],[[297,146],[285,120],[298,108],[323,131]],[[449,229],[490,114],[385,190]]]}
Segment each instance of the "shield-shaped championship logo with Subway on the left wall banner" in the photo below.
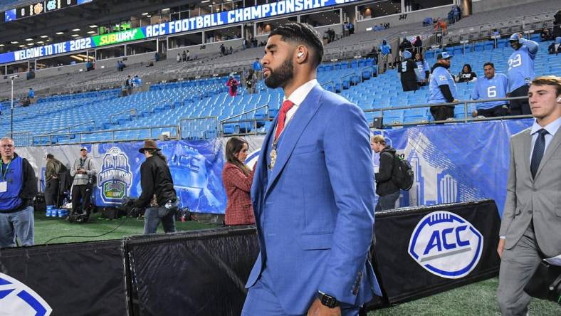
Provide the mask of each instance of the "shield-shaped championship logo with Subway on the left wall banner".
{"label": "shield-shaped championship logo with Subway on the left wall banner", "polygon": [[129,158],[121,149],[112,147],[103,156],[103,166],[98,174],[100,196],[104,203],[120,204],[129,195],[132,183]]}

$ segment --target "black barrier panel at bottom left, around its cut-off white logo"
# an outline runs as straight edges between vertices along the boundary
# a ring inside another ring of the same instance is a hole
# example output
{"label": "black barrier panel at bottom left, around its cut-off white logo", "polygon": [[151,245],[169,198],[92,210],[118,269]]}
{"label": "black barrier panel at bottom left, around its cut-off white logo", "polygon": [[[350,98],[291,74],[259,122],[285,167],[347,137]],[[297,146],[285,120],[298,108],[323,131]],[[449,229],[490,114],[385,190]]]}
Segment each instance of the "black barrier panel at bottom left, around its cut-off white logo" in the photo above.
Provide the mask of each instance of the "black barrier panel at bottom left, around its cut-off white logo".
{"label": "black barrier panel at bottom left, around its cut-off white logo", "polygon": [[0,272],[34,290],[51,315],[123,316],[124,255],[122,241],[7,248],[0,251]]}

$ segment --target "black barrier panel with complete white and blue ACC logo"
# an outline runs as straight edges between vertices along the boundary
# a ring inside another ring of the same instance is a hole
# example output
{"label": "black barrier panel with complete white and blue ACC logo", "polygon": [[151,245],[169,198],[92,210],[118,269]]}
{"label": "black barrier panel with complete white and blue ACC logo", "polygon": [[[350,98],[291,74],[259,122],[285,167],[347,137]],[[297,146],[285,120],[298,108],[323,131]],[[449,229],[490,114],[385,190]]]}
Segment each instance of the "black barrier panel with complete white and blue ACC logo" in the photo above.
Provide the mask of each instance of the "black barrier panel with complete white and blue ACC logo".
{"label": "black barrier panel with complete white and blue ACC logo", "polygon": [[497,275],[499,227],[492,200],[377,213],[374,263],[389,304]]}

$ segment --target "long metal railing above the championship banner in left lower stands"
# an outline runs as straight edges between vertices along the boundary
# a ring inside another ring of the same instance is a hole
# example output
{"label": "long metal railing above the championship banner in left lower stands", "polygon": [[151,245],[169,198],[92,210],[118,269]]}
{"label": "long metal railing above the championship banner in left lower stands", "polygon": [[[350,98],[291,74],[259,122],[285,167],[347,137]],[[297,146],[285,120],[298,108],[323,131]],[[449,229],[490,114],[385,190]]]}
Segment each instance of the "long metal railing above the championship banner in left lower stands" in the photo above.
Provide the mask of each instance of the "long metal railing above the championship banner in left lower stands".
{"label": "long metal railing above the championship banner in left lower stands", "polygon": [[[166,130],[166,131],[163,131]],[[170,132],[171,130],[171,132]],[[126,132],[140,131],[139,136],[128,137]],[[147,131],[145,137],[142,131]],[[154,135],[157,132],[157,135]],[[115,130],[97,130],[92,132],[59,133],[53,135],[39,135],[31,137],[31,145],[45,146],[52,144],[86,144],[97,142],[132,142],[146,139],[158,139],[165,132],[169,132],[169,139],[179,139],[179,126],[160,125],[147,127],[130,127]],[[105,136],[104,136],[105,135]],[[96,140],[93,140],[93,139]]]}

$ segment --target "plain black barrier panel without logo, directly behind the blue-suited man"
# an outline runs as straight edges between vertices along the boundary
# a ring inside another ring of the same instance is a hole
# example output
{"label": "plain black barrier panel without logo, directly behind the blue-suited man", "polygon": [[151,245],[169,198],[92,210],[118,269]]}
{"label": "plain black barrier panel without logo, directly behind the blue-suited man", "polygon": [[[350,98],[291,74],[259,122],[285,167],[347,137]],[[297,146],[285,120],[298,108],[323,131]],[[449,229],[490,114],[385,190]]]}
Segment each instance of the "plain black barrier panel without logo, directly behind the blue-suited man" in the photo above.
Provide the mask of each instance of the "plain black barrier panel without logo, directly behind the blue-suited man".
{"label": "plain black barrier panel without logo, directly behind the blue-suited man", "polygon": [[256,229],[217,228],[128,242],[139,315],[240,315]]}

